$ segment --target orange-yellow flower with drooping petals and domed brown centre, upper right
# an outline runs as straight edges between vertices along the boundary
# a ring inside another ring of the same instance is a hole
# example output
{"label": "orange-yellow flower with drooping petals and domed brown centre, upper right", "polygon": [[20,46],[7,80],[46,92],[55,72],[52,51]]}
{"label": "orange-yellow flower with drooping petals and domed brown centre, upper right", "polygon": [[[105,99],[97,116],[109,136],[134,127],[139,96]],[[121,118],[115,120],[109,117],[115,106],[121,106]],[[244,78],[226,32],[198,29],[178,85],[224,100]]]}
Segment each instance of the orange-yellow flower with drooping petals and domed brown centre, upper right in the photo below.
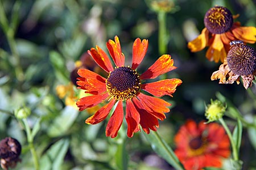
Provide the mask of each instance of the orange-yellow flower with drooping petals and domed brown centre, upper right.
{"label": "orange-yellow flower with drooping petals and domed brown centre, upper right", "polygon": [[198,52],[209,46],[206,57],[210,61],[224,62],[233,40],[243,40],[245,43],[256,42],[255,27],[241,27],[240,22],[233,22],[238,15],[222,6],[212,7],[204,16],[205,28],[192,42],[188,43],[191,52]]}

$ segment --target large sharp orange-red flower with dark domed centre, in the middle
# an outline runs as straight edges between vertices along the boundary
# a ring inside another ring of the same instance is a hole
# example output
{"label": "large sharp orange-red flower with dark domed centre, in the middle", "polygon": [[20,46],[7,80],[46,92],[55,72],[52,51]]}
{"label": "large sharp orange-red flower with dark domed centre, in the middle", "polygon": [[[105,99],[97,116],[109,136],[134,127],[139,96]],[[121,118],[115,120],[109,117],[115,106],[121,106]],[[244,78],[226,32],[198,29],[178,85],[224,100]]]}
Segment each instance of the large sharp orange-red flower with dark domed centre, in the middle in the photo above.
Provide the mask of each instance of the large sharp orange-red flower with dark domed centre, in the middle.
{"label": "large sharp orange-red flower with dark domed centre, in the middle", "polygon": [[[86,96],[77,101],[76,104],[79,110],[97,106],[104,101],[107,102],[105,106],[101,107],[85,122],[93,125],[100,123],[108,116],[115,105],[114,112],[106,126],[106,136],[114,138],[122,125],[124,116],[123,102],[126,102],[127,136],[131,138],[134,132],[140,131],[140,125],[147,134],[150,129],[156,131],[156,127],[159,127],[158,119],[163,121],[166,118],[164,113],[170,111],[168,106],[171,105],[157,97],[164,95],[172,97],[176,86],[180,85],[182,81],[178,78],[146,84],[143,84],[142,81],[156,78],[161,74],[176,69],[173,65],[174,61],[170,55],[162,55],[146,72],[139,74],[135,69],[141,64],[147,52],[148,40],[143,39],[141,41],[139,38],[135,40],[131,67],[125,66],[125,55],[121,51],[117,36],[115,36],[114,41],[109,40],[106,43],[106,47],[114,61],[115,68],[113,68],[108,55],[100,47],[91,48],[88,53],[109,74],[108,78],[104,78],[88,69],[79,69],[78,71],[79,76],[81,76],[77,81],[78,88],[84,89],[85,93],[92,94],[92,96]],[[146,91],[155,97],[148,96],[142,91]]]}

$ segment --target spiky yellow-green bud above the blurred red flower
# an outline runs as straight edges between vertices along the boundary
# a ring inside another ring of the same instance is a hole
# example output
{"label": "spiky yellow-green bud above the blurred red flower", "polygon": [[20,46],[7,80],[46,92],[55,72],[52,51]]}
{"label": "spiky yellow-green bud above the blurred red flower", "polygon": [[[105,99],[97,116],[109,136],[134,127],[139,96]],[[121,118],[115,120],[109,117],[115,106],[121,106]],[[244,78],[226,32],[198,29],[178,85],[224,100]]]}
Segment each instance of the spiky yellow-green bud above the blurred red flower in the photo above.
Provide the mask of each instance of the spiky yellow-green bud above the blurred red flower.
{"label": "spiky yellow-green bud above the blurred red flower", "polygon": [[217,121],[222,118],[226,111],[226,106],[221,101],[212,99],[210,100],[210,104],[205,107],[205,117],[209,122]]}

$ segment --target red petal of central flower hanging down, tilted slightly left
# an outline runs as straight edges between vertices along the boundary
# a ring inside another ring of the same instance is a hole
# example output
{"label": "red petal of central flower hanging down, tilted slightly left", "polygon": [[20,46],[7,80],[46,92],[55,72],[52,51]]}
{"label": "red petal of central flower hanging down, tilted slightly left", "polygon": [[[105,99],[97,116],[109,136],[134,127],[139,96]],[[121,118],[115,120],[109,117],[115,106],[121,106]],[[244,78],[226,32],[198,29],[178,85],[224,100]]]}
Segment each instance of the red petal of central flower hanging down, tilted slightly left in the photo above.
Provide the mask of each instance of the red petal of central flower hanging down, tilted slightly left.
{"label": "red petal of central flower hanging down, tilted slightly left", "polygon": [[121,127],[123,122],[123,104],[122,100],[119,100],[117,103],[117,107],[114,110],[114,113],[109,119],[108,125],[106,126],[106,136],[110,136],[111,138],[115,138],[117,136],[117,132]]}

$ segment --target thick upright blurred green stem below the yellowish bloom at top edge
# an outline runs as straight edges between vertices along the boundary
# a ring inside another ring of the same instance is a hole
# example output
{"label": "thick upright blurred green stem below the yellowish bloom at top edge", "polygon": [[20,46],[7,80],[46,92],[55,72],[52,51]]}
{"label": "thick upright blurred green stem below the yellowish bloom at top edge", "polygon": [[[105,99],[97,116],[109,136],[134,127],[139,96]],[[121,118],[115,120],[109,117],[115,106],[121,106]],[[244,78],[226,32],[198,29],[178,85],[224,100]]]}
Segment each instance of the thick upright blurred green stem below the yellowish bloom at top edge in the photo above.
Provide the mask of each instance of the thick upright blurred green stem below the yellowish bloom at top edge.
{"label": "thick upright blurred green stem below the yellowish bloom at top edge", "polygon": [[166,13],[164,11],[159,11],[158,13],[158,45],[159,54],[163,55],[167,53],[167,30],[166,30]]}

